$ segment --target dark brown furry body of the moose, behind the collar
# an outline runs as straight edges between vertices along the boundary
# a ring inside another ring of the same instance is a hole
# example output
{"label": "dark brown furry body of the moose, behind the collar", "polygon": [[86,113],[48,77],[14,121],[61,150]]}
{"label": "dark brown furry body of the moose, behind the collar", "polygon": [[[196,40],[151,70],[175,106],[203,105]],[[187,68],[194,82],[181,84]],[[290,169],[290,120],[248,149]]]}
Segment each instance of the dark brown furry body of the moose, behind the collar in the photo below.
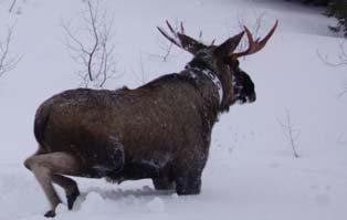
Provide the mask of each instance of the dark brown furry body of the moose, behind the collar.
{"label": "dark brown furry body of the moose, behind the collar", "polygon": [[191,78],[170,74],[137,90],[66,91],[39,107],[35,137],[45,153],[75,155],[85,176],[200,175],[219,109],[214,90],[209,78],[197,87]]}

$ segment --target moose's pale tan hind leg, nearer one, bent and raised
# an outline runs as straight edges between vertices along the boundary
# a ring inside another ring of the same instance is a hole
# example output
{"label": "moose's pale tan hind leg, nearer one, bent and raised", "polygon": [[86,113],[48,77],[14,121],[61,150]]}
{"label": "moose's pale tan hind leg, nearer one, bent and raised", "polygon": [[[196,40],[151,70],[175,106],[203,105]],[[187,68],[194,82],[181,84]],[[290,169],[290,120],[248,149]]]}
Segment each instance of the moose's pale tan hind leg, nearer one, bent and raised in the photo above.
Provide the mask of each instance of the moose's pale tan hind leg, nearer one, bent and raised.
{"label": "moose's pale tan hind leg, nearer one, bent and raised", "polygon": [[67,153],[50,153],[31,156],[24,161],[24,165],[33,172],[50,202],[51,210],[44,216],[54,217],[55,208],[61,203],[61,199],[54,190],[52,181],[53,179],[57,181],[62,179],[59,180],[53,176],[56,174],[77,175],[81,170],[80,161]]}

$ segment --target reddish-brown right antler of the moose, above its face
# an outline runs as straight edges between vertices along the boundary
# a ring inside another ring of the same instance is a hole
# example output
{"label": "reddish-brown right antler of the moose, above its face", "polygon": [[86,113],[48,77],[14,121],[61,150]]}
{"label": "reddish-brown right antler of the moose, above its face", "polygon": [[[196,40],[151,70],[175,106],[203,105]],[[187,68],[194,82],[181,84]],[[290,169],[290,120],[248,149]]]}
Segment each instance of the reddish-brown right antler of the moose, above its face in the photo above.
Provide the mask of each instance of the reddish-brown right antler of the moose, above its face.
{"label": "reddish-brown right antler of the moose, above its face", "polygon": [[244,31],[245,31],[245,33],[248,35],[248,39],[249,39],[249,49],[243,51],[243,52],[234,53],[234,54],[232,54],[232,56],[234,59],[238,59],[238,57],[241,57],[241,56],[245,56],[245,55],[250,55],[250,54],[256,53],[257,51],[262,50],[265,46],[265,44],[267,43],[269,39],[275,32],[277,25],[278,25],[278,20],[276,21],[274,27],[270,30],[270,32],[267,33],[267,35],[263,40],[256,39],[255,41],[253,40],[251,31],[246,27],[244,27]]}

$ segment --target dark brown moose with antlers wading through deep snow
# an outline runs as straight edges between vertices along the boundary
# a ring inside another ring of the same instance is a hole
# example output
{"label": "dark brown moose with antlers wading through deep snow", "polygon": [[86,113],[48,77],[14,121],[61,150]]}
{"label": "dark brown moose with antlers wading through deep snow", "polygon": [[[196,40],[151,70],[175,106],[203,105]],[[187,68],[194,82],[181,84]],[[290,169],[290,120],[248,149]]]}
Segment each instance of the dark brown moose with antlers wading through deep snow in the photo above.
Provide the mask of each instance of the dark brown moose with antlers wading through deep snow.
{"label": "dark brown moose with antlers wading through deep snow", "polygon": [[[54,217],[62,187],[71,210],[80,190],[66,176],[124,180],[150,178],[157,190],[198,195],[211,130],[221,113],[255,101],[251,77],[239,59],[262,50],[276,30],[253,40],[250,30],[220,45],[206,45],[185,33],[158,28],[171,43],[193,55],[179,73],[160,76],[135,90],[76,88],[41,104],[34,118],[36,153],[25,159]],[[249,48],[234,52],[244,33]]]}

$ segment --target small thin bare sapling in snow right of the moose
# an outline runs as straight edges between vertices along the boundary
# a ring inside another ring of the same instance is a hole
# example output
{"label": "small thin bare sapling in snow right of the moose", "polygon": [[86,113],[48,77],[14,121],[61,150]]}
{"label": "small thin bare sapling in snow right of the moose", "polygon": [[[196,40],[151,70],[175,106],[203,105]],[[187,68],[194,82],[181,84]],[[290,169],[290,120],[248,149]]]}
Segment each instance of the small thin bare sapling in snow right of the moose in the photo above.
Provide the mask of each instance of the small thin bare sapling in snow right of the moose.
{"label": "small thin bare sapling in snow right of the moose", "polygon": [[282,130],[283,130],[283,134],[284,134],[286,140],[288,142],[288,144],[292,147],[294,157],[298,158],[299,155],[297,153],[296,142],[297,142],[297,139],[299,137],[301,132],[299,132],[299,129],[294,127],[290,111],[286,111],[286,116],[285,116],[285,119],[283,122],[280,121],[280,119],[277,119],[277,121],[278,121],[278,124],[282,127]]}

